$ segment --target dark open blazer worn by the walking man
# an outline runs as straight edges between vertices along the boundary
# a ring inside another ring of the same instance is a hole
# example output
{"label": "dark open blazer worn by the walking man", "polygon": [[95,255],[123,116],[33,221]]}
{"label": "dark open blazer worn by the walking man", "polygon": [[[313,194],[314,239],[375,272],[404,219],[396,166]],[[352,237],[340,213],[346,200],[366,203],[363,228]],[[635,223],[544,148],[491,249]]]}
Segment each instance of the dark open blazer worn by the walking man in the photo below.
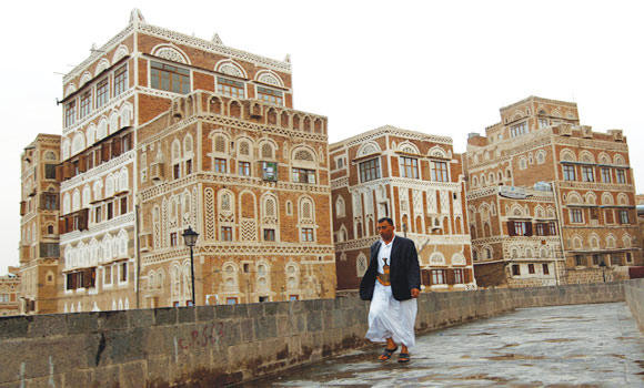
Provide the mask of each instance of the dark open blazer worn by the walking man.
{"label": "dark open blazer worn by the walking man", "polygon": [[[369,268],[366,268],[362,282],[360,282],[360,297],[363,300],[371,300],[373,297],[373,287],[375,286],[375,276],[378,274],[378,252],[380,247],[380,239],[371,246]],[[389,266],[393,297],[396,300],[411,299],[411,289],[421,289],[421,268],[419,266],[419,254],[414,242],[396,235],[391,247]]]}

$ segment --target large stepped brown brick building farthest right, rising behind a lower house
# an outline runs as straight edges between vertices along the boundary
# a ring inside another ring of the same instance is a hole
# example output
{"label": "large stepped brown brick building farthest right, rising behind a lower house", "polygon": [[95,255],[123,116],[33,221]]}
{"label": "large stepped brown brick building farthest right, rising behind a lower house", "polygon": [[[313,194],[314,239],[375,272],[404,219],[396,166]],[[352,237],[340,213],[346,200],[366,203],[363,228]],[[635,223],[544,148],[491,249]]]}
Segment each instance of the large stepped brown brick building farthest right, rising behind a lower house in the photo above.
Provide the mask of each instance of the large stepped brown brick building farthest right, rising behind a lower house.
{"label": "large stepped brown brick building farthest right, rising behind a lower house", "polygon": [[[621,130],[593,132],[580,125],[575,103],[530,96],[502,108],[501,122],[486,127],[485,136],[472,134],[466,155],[471,193],[500,185],[552,185],[565,257],[563,282],[601,280],[602,263],[613,269],[611,276],[621,276],[626,273],[622,266],[642,262],[635,186]],[[481,217],[475,211],[471,219]],[[482,248],[477,239],[473,244]],[[530,253],[534,257],[524,258],[537,257],[537,251]],[[497,254],[493,258],[509,253]],[[510,269],[506,274],[513,276]]]}

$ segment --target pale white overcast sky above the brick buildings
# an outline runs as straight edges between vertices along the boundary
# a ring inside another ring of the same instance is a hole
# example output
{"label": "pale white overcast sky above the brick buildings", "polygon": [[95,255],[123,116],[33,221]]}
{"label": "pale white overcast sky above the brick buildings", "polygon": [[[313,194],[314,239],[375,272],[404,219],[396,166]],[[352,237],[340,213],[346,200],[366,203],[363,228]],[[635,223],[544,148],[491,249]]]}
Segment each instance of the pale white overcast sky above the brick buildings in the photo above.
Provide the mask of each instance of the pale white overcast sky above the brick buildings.
{"label": "pale white overcast sky above the brick buildings", "polygon": [[623,129],[642,191],[644,3],[637,1],[10,1],[3,42],[0,274],[18,265],[20,153],[61,130],[62,75],[123,29],[150,24],[283,60],[294,106],[329,118],[330,142],[392,124],[450,135],[529,95],[575,101],[582,124]]}

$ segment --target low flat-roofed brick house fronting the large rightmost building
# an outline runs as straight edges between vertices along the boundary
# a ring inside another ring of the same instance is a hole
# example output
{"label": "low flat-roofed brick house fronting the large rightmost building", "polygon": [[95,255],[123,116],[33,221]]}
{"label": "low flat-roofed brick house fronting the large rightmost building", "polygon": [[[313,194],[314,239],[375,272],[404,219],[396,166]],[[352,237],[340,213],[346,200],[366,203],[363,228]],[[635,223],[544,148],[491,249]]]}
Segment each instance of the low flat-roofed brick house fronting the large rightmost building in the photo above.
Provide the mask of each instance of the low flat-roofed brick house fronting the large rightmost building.
{"label": "low flat-roofed brick house fronting the large rightmost building", "polygon": [[564,259],[550,185],[467,192],[474,274],[481,287],[559,284]]}

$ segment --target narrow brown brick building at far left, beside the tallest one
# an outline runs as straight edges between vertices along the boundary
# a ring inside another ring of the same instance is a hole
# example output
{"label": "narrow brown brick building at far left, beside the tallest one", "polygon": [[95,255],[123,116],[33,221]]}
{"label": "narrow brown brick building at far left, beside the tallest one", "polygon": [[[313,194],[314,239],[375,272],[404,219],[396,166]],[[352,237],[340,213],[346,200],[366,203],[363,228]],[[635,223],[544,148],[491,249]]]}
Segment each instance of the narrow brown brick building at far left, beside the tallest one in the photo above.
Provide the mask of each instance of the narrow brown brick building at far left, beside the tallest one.
{"label": "narrow brown brick building at far left, beside the tallest one", "polygon": [[20,310],[57,312],[60,135],[39,134],[21,155]]}

